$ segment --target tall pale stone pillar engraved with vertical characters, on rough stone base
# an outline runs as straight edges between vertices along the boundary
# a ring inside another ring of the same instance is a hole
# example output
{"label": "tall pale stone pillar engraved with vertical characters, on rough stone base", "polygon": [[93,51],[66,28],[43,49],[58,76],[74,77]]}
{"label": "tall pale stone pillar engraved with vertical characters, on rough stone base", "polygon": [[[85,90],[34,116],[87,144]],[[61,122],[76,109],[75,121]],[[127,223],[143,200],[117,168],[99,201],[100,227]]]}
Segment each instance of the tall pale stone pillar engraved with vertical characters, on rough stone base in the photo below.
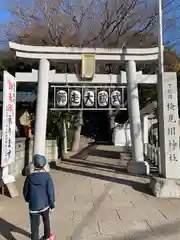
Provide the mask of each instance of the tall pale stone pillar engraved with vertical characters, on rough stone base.
{"label": "tall pale stone pillar engraved with vertical characters, on rough stone base", "polygon": [[161,174],[150,187],[156,197],[180,197],[179,116],[176,73],[160,75],[158,83]]}

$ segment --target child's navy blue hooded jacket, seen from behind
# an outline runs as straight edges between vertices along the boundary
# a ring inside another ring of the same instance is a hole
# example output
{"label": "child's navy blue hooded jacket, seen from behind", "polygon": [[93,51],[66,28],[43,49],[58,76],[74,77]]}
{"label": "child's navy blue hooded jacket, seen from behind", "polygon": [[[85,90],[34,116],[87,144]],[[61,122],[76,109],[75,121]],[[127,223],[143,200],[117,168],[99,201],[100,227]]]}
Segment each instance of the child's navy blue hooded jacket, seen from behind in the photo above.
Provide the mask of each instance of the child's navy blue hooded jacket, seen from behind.
{"label": "child's navy blue hooded jacket, seen from behind", "polygon": [[48,206],[54,208],[54,185],[50,174],[34,172],[27,176],[23,195],[31,211],[39,211]]}

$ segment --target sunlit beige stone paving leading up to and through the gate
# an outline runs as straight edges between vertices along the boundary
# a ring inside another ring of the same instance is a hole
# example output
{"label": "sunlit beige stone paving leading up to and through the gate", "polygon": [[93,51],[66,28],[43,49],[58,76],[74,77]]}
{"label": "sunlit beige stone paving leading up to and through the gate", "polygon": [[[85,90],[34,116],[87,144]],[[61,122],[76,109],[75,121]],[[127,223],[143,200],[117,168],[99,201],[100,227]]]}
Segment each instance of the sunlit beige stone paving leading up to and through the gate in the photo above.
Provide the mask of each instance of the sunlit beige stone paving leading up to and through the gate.
{"label": "sunlit beige stone paving leading up to and through the gate", "polygon": [[[112,169],[113,162],[117,159],[89,154],[51,171],[56,188],[51,224],[56,239],[179,239],[180,200],[154,198],[147,190],[149,179],[120,173]],[[23,181],[17,181],[20,192]],[[13,200],[0,196],[0,240],[6,239],[29,239],[22,195]]]}

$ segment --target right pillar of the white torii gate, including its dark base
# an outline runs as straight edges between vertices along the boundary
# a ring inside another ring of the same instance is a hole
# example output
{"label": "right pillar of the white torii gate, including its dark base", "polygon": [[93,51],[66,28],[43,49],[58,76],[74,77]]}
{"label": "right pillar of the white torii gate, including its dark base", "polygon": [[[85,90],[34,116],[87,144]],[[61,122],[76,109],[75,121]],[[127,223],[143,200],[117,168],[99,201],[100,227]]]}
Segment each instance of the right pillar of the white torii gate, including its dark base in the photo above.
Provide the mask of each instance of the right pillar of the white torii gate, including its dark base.
{"label": "right pillar of the white torii gate, including its dark base", "polygon": [[132,141],[132,161],[128,165],[128,172],[133,174],[149,174],[149,164],[144,161],[142,128],[139,108],[138,81],[136,79],[136,62],[126,63],[128,111]]}

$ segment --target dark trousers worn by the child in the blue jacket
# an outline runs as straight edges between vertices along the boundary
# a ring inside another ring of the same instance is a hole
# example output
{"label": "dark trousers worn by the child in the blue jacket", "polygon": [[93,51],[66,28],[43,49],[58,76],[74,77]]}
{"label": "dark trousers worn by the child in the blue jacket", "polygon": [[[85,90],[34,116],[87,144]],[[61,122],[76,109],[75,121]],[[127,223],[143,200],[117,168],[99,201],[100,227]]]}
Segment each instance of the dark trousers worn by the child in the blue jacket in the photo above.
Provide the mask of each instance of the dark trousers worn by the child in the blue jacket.
{"label": "dark trousers worn by the child in the blue jacket", "polygon": [[49,209],[48,209],[41,213],[30,213],[32,240],[39,240],[40,216],[42,216],[42,220],[44,224],[44,238],[48,239],[50,237],[50,220],[49,220]]}

